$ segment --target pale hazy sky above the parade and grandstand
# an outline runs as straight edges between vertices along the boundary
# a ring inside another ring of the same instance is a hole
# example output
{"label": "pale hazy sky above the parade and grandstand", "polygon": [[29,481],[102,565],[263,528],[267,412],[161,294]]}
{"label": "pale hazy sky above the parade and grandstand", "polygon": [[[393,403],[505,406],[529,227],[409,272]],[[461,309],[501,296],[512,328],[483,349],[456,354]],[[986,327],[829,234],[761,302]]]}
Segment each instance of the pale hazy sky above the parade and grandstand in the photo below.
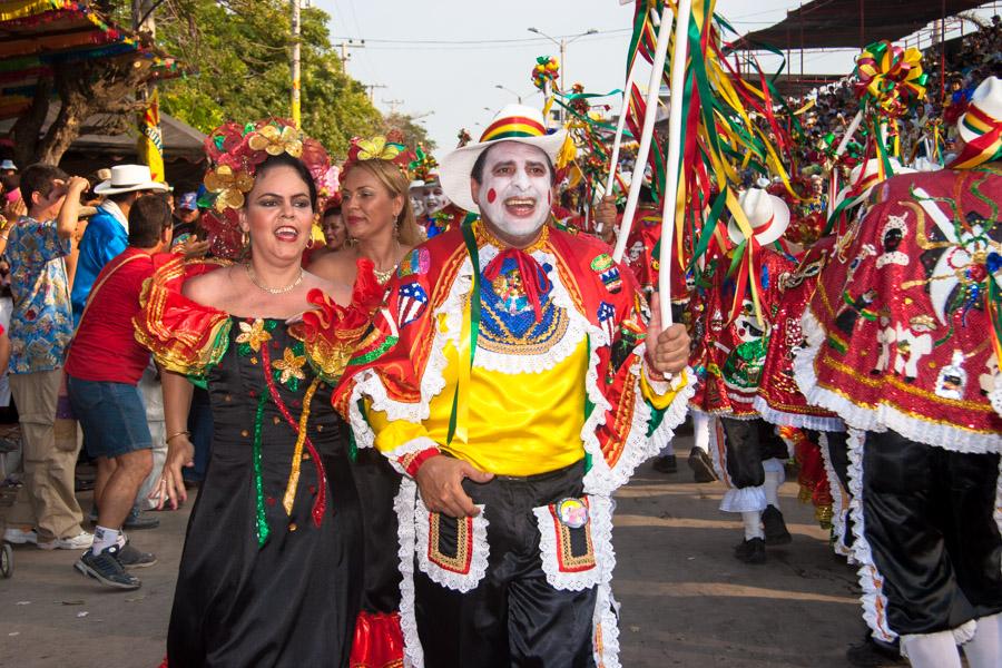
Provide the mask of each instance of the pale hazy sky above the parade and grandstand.
{"label": "pale hazy sky above the parade and grandstand", "polygon": [[[332,41],[365,40],[364,48],[348,48],[348,73],[365,85],[385,87],[373,89],[381,110],[395,107],[420,117],[438,143],[440,157],[455,146],[459,128],[468,128],[475,139],[494,111],[514,102],[517,95],[525,104],[542,106],[530,71],[538,56],[558,56],[559,47],[529,32],[530,27],[554,38],[598,30],[568,46],[563,63],[568,87],[580,81],[590,92],[605,92],[623,85],[632,6],[618,0],[313,2],[332,17]],[[782,20],[798,4],[718,0],[717,13],[745,33]],[[853,56],[854,51],[807,53],[804,71],[847,73]],[[793,60],[799,71],[799,57]],[[765,68],[776,65],[763,59]],[[642,79],[646,82],[647,75]],[[618,109],[618,99],[610,102]]]}

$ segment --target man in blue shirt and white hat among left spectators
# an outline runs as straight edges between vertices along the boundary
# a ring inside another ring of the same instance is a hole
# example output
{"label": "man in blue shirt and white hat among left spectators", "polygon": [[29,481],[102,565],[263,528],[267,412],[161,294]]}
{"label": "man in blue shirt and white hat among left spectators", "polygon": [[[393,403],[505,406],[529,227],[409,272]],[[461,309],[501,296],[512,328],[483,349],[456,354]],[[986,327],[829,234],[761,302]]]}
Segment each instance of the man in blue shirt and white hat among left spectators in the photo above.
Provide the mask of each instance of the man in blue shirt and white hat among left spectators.
{"label": "man in blue shirt and white hat among left spectators", "polygon": [[112,257],[129,245],[129,210],[149,193],[166,193],[167,185],[153,180],[146,165],[116,165],[111,178],[95,186],[95,195],[106,196],[90,218],[80,240],[80,257],[73,278],[73,326],[80,324],[84,306],[97,275]]}

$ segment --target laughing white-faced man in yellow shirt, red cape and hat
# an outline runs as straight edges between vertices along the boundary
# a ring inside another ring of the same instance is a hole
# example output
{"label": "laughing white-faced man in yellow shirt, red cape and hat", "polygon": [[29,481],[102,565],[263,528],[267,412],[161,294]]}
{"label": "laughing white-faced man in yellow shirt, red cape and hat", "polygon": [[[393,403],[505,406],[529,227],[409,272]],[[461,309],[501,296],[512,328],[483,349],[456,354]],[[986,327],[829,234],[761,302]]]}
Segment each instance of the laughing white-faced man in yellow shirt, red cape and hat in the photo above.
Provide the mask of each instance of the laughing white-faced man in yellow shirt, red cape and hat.
{"label": "laughing white-faced man in yellow shirt, red cape and hat", "polygon": [[480,218],[403,259],[335,397],[404,475],[415,665],[615,664],[611,494],[692,393],[685,328],[608,246],[546,224],[563,140],[510,106],[444,158],[445,194]]}

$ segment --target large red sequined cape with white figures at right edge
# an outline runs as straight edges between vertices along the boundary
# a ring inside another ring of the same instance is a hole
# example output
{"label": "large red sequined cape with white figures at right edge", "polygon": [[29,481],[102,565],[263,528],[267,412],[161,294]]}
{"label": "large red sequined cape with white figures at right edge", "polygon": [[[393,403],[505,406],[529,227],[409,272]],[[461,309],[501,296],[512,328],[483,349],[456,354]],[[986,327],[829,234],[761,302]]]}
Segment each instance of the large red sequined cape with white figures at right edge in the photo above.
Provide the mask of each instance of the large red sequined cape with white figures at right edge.
{"label": "large red sequined cape with white figures at right edge", "polygon": [[1002,451],[993,276],[1002,175],[901,175],[839,239],[804,315],[811,403],[847,424],[959,452]]}

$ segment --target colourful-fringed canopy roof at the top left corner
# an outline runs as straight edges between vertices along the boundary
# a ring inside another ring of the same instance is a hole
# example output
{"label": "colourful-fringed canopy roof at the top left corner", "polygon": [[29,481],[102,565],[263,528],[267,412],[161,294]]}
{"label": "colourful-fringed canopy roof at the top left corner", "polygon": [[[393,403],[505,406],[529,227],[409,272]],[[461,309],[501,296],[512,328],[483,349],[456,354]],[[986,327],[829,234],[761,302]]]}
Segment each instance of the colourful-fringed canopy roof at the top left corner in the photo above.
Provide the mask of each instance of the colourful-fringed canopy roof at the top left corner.
{"label": "colourful-fringed canopy roof at the top left corner", "polygon": [[178,76],[177,61],[76,0],[0,0],[0,119],[27,110],[57,63],[147,59],[149,79]]}

